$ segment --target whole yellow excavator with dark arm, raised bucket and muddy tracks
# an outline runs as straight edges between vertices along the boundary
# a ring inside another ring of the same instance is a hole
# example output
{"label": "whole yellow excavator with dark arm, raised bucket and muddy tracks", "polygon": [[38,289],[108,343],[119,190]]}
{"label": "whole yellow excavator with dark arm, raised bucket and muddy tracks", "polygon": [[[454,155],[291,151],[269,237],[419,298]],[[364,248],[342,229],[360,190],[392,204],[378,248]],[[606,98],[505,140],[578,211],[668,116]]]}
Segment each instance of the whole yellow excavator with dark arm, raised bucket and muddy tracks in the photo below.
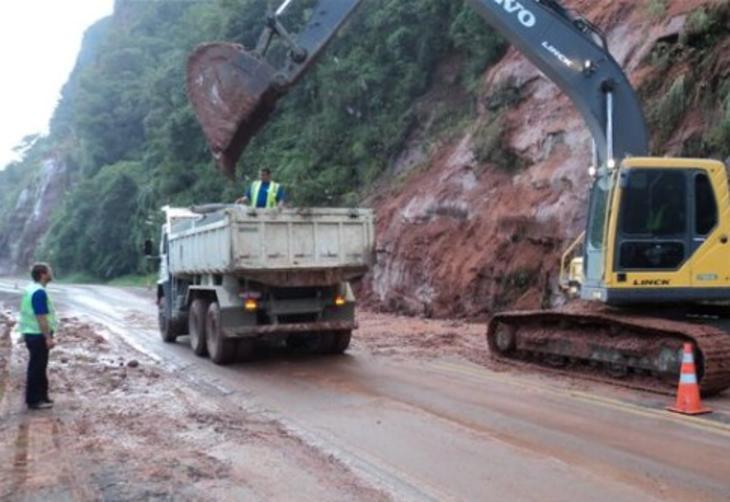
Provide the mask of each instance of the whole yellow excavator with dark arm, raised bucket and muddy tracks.
{"label": "whole yellow excavator with dark arm, raised bucket and muddy tracks", "polygon": [[[221,169],[363,0],[319,0],[300,33],[266,19],[257,47],[212,43],[189,58],[188,96]],[[649,133],[601,31],[557,0],[467,0],[565,92],[593,137],[585,233],[563,257],[561,310],[491,318],[494,357],[669,391],[691,342],[705,395],[730,387],[730,193],[722,162],[649,157]],[[275,37],[288,47],[275,69]]]}

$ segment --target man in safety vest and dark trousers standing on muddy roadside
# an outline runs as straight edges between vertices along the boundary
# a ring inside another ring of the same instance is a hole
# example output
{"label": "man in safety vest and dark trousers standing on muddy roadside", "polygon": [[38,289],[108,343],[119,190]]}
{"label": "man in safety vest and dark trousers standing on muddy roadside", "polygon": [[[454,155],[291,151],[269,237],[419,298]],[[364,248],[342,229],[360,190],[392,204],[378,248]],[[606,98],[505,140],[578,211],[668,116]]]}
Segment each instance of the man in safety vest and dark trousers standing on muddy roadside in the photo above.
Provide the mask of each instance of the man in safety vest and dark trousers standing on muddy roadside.
{"label": "man in safety vest and dark trousers standing on muddy roadside", "polygon": [[36,263],[30,272],[33,282],[23,292],[20,302],[19,330],[30,352],[25,402],[30,409],[50,408],[48,397],[48,351],[53,348],[56,311],[46,285],[53,280],[53,270],[45,263]]}

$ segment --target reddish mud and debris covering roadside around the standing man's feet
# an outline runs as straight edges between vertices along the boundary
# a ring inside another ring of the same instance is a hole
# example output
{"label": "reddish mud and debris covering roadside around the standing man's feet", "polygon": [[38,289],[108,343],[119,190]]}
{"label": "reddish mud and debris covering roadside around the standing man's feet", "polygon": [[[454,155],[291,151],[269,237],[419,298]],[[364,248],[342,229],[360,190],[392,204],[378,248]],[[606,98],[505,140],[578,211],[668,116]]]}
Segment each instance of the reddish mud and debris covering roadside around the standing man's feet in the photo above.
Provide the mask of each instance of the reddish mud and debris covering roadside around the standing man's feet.
{"label": "reddish mud and debris covering roadside around the standing man's feet", "polygon": [[269,500],[292,486],[299,499],[386,498],[235,395],[195,388],[100,326],[62,321],[55,406],[31,412],[27,351],[0,317],[0,500]]}

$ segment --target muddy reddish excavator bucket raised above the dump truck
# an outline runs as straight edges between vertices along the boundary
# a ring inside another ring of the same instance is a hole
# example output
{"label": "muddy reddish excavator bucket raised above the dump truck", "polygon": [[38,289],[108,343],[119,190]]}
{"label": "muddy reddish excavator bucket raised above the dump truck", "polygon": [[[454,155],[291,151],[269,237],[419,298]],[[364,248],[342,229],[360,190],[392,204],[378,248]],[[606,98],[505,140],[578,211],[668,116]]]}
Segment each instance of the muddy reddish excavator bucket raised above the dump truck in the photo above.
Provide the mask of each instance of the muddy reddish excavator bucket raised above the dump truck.
{"label": "muddy reddish excavator bucket raised above the dump truck", "polygon": [[283,90],[275,70],[243,46],[212,43],[188,58],[188,99],[218,166],[233,178],[244,147],[261,127]]}

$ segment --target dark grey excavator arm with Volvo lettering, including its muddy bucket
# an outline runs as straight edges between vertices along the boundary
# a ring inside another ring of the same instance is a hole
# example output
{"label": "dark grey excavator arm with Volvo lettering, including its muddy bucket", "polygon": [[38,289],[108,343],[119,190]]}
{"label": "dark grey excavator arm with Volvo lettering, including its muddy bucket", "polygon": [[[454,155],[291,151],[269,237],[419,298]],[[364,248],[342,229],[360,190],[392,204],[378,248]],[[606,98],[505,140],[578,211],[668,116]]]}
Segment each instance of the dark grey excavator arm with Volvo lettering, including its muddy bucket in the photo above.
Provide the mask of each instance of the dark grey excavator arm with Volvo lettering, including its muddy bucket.
{"label": "dark grey excavator arm with Volvo lettering, including its muddy bucket", "polygon": [[[278,99],[317,56],[363,0],[320,0],[299,34],[289,34],[279,15],[255,50],[229,43],[199,47],[188,61],[190,101],[216,160],[232,176],[244,147],[266,123]],[[557,0],[467,0],[484,20],[517,47],[570,97],[594,141],[596,166],[627,155],[646,155],[649,135],[639,100],[605,39],[591,23]],[[289,46],[281,69],[266,61],[273,37]]]}

